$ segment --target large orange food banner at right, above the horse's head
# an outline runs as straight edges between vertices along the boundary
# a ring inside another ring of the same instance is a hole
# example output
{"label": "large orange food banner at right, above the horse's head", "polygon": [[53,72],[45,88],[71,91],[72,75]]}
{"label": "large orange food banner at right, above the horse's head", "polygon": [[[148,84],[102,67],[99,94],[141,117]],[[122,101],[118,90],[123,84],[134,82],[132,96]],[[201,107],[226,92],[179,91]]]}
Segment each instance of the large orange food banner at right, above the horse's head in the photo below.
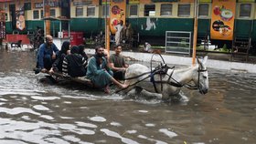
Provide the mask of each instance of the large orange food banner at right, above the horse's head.
{"label": "large orange food banner at right, above the horse's head", "polygon": [[212,0],[210,38],[232,40],[236,0]]}

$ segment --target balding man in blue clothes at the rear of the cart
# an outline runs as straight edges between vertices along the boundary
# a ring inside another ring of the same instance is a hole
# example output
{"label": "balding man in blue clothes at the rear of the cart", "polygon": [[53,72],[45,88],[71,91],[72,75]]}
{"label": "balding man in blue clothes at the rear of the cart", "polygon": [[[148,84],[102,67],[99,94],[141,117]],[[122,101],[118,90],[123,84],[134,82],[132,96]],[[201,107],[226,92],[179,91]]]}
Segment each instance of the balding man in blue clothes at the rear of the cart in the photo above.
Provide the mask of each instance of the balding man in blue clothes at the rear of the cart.
{"label": "balding man in blue clothes at the rear of the cart", "polygon": [[37,70],[35,73],[37,74],[39,71],[47,72],[56,59],[56,56],[59,53],[59,49],[55,44],[53,44],[52,36],[46,36],[46,43],[39,46],[38,54],[37,54]]}

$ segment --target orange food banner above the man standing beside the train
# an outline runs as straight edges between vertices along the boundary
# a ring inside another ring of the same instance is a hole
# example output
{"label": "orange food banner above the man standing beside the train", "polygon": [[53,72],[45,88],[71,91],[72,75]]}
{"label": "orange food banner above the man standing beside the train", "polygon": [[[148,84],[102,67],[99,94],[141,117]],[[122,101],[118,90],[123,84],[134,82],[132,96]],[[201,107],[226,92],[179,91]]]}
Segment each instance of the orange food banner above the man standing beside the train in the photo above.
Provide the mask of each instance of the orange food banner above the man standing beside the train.
{"label": "orange food banner above the man standing beside the train", "polygon": [[121,21],[123,21],[123,26],[125,25],[126,0],[111,0],[110,11],[110,28],[112,34],[115,34],[115,26],[120,24]]}

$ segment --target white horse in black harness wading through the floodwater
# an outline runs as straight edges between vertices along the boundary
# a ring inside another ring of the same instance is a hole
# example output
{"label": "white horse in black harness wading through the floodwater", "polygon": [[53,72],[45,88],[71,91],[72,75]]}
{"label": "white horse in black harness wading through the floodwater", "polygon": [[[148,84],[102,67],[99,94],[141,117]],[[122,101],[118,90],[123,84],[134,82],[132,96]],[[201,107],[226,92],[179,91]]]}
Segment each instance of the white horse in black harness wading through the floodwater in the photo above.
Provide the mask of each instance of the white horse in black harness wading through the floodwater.
{"label": "white horse in black harness wading through the floodwater", "polygon": [[[162,75],[151,72],[150,68],[144,65],[133,64],[128,67],[125,74],[127,79],[124,83],[130,86],[124,92],[141,92],[144,89],[149,93],[161,94],[155,96],[163,100],[187,101],[188,98],[181,93],[181,87],[188,86],[188,83],[192,81],[201,94],[206,94],[208,93],[208,71],[205,65],[207,60],[208,57],[204,57],[202,61],[197,59],[196,66],[178,69],[168,68],[166,74]],[[132,90],[135,89],[134,87],[140,87],[137,88],[140,90]]]}

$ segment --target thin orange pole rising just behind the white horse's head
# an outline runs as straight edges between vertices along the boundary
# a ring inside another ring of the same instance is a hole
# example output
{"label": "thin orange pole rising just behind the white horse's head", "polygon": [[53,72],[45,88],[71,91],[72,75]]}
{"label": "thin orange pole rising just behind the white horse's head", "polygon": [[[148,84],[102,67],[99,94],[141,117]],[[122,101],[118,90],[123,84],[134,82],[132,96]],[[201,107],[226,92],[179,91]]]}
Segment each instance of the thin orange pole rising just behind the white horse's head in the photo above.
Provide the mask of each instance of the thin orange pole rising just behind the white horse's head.
{"label": "thin orange pole rising just behind the white horse's head", "polygon": [[197,0],[195,0],[195,19],[194,19],[194,35],[193,35],[193,53],[192,53],[192,65],[196,64],[196,56],[197,56],[197,10],[198,4]]}

